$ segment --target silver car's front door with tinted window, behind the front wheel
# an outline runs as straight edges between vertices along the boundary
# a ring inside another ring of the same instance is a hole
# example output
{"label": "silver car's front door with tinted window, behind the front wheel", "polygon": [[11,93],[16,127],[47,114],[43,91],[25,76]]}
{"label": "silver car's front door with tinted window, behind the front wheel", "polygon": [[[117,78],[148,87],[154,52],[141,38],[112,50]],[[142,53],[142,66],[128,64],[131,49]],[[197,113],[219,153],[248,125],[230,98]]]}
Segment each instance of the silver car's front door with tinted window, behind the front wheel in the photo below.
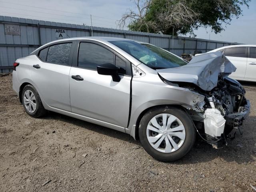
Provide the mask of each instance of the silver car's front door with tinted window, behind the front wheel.
{"label": "silver car's front door with tinted window, behind the front wheel", "polygon": [[[132,78],[130,62],[99,42],[84,41],[78,46],[69,77],[72,112],[126,128]],[[104,63],[124,69],[119,74],[120,82],[114,82],[111,76],[98,74],[97,66]]]}

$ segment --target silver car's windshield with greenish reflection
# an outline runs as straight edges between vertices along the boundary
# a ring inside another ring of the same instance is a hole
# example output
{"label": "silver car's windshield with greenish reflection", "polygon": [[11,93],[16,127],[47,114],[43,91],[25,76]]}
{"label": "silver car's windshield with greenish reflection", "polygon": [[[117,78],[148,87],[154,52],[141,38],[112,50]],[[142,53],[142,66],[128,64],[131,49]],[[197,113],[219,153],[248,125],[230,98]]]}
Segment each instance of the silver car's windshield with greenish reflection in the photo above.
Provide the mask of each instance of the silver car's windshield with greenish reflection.
{"label": "silver car's windshield with greenish reflection", "polygon": [[153,69],[173,68],[187,62],[157,46],[135,41],[110,41],[140,62]]}

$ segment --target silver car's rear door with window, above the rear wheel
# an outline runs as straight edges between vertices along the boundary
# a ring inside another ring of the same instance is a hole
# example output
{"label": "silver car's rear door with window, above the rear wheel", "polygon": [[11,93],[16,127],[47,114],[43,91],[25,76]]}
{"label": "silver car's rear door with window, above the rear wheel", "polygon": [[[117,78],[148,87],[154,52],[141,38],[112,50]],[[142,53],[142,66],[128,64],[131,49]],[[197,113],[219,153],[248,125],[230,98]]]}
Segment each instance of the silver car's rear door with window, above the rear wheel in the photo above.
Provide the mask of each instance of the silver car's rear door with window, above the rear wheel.
{"label": "silver car's rear door with window, above the rear wheel", "polygon": [[46,104],[71,111],[69,72],[72,42],[50,45],[38,52],[38,60],[31,66],[32,80]]}

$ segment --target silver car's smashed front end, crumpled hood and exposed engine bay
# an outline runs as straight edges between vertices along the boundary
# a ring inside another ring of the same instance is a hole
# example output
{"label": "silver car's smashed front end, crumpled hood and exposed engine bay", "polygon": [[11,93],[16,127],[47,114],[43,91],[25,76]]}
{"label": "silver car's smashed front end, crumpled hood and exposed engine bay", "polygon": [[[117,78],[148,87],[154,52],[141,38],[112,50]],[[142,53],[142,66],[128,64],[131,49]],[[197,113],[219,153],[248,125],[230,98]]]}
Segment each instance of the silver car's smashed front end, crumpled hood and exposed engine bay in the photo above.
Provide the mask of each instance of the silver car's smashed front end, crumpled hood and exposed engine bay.
{"label": "silver car's smashed front end, crumpled hood and exposed engine bay", "polygon": [[236,68],[222,53],[194,58],[184,67],[158,70],[158,73],[162,80],[204,96],[204,101],[184,107],[202,139],[218,148],[237,132],[242,134],[250,102],[241,84],[227,77]]}

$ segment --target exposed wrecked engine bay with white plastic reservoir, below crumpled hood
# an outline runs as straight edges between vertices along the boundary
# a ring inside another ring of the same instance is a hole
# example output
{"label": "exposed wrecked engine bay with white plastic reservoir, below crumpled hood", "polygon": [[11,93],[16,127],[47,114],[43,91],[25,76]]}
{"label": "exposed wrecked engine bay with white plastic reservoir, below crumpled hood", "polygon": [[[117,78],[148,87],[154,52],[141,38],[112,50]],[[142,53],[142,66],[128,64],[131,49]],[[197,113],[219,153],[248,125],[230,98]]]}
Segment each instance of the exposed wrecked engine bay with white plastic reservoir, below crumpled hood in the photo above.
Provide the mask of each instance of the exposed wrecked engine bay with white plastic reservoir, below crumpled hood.
{"label": "exposed wrecked engine bay with white plastic reservoir, below crumpled hood", "polygon": [[[200,136],[214,147],[227,144],[228,139],[242,134],[243,120],[250,112],[250,102],[244,97],[245,90],[239,82],[219,76],[218,84],[205,91],[194,84],[184,82],[178,86],[205,96],[201,106],[188,108]],[[200,111],[201,110],[201,111]]]}

